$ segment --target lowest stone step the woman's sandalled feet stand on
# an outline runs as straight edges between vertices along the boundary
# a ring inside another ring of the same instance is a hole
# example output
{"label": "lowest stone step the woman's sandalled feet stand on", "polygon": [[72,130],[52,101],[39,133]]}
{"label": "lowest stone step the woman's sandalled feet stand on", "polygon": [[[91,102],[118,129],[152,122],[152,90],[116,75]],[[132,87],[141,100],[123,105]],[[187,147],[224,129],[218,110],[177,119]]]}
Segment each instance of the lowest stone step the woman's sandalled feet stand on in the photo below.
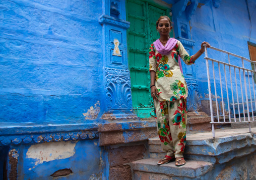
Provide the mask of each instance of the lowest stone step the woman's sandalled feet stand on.
{"label": "lowest stone step the woman's sandalled feet stand on", "polygon": [[187,160],[185,165],[177,167],[175,162],[157,165],[158,160],[149,158],[129,163],[134,180],[209,179],[203,176],[213,168],[213,163],[205,161]]}

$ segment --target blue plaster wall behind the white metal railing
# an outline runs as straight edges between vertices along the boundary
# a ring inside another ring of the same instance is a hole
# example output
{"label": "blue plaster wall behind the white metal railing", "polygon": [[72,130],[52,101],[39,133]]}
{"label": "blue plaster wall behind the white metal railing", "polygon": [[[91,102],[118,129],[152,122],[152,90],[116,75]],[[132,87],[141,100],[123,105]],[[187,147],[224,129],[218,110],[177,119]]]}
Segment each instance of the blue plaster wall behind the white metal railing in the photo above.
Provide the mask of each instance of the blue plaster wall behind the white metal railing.
{"label": "blue plaster wall behind the white metal railing", "polygon": [[[256,5],[255,1],[248,0],[250,14],[252,14],[253,9]],[[254,12],[251,16],[251,37],[250,42],[256,43],[256,13]],[[249,58],[249,51],[247,41],[249,41],[250,36],[250,21],[249,15],[247,11],[246,1],[231,1],[231,0],[223,0],[219,8],[214,8],[212,1],[208,1],[201,8],[197,8],[195,14],[191,16],[190,21],[191,26],[191,38],[196,41],[196,46],[194,47],[194,53],[196,53],[201,46],[203,41],[207,41],[211,44],[211,46],[243,56],[247,59]],[[202,95],[201,100],[209,99],[208,92],[208,83],[207,83],[207,71],[206,71],[206,61],[204,59],[204,55],[202,55],[195,63],[196,71],[197,71],[197,79],[199,80],[199,90]],[[228,63],[227,55],[218,53],[213,50],[209,50],[208,57],[211,57],[216,60],[221,60]],[[230,58],[231,64],[242,66],[241,60],[238,58]],[[214,84],[213,84],[213,71],[212,71],[212,62],[210,62],[210,74],[211,74],[211,88],[212,93],[214,93]],[[245,68],[251,69],[250,63],[244,63]],[[222,71],[222,86],[223,86],[223,96],[224,101],[227,101],[226,94],[226,86],[225,86],[225,77],[224,77],[224,69],[221,66]],[[229,81],[229,70],[226,67],[227,79],[228,79],[228,87],[229,87],[229,101],[232,101],[231,96],[231,88]],[[236,75],[238,76],[238,70],[236,71]],[[247,74],[247,73],[245,73]],[[234,77],[234,70],[231,68],[231,75]],[[219,82],[219,72],[218,72],[218,64],[215,64],[215,76],[217,83],[217,95],[219,96],[218,101],[221,100],[221,91],[220,91],[220,82]],[[241,74],[242,76],[242,74]],[[237,81],[239,81],[237,77]],[[248,83],[248,79],[246,76],[246,82]],[[233,79],[233,88],[234,79]],[[238,83],[238,82],[237,82]],[[250,77],[250,83],[251,77]],[[244,89],[243,81],[242,87]],[[248,86],[247,86],[248,88]],[[247,89],[249,92],[249,89]],[[252,89],[251,89],[252,90]],[[239,93],[239,102],[241,102],[241,91],[240,91],[240,83],[238,83],[238,93]],[[236,94],[235,94],[235,103]],[[252,98],[254,99],[254,98]],[[214,99],[215,100],[215,99]],[[245,92],[244,92],[244,102],[245,101]],[[227,109],[227,104],[226,107]]]}

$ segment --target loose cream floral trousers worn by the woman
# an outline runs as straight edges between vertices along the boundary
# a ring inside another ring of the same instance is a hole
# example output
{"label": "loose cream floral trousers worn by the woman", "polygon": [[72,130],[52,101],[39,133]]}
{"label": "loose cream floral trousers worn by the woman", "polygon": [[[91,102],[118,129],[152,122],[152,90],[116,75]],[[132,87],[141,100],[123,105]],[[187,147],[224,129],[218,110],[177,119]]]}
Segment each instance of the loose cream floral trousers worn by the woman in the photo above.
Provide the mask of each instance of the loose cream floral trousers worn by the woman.
{"label": "loose cream floral trousers worn by the woman", "polygon": [[155,100],[157,131],[168,156],[183,157],[186,143],[186,99]]}

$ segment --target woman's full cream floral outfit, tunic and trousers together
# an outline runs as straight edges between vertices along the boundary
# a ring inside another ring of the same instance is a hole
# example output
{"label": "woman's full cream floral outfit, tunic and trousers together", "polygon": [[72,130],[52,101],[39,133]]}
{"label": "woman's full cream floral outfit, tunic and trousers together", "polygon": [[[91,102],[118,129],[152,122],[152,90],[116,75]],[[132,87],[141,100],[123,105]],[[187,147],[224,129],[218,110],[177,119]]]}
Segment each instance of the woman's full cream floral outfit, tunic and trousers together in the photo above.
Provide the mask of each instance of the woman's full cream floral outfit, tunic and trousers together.
{"label": "woman's full cream floral outfit, tunic and trousers together", "polygon": [[150,71],[156,72],[155,86],[159,93],[154,103],[161,146],[168,156],[183,157],[187,85],[179,68],[178,56],[185,64],[194,64],[193,57],[179,41],[168,55],[161,55],[154,44],[150,47]]}

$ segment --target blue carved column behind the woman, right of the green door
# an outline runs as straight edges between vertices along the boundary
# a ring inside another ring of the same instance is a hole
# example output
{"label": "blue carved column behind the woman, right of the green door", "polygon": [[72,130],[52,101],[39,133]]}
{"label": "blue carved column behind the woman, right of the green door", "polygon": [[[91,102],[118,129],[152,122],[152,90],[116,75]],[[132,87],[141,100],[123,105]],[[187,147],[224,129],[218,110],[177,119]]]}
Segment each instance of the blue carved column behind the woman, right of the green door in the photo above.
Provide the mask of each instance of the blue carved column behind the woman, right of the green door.
{"label": "blue carved column behind the woman, right of the green door", "polygon": [[[180,0],[172,7],[172,17],[174,21],[175,38],[184,46],[189,55],[193,55],[195,41],[191,40],[189,31],[189,20],[198,6],[198,0],[191,0],[187,6],[188,0]],[[187,66],[181,61],[183,74],[188,86],[187,109],[188,111],[201,111],[200,93],[195,65]]]}

